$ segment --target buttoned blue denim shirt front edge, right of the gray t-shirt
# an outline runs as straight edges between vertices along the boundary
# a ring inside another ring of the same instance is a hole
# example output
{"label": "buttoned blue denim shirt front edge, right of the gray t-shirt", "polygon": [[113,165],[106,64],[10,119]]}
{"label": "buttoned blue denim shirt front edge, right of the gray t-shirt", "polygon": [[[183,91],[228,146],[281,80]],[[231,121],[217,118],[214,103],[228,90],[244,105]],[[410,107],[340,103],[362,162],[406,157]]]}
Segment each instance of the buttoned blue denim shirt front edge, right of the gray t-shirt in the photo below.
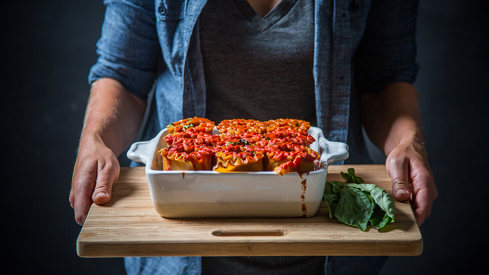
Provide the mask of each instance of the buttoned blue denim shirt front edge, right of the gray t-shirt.
{"label": "buttoned blue denim shirt front edge, right of the gray t-shirt", "polygon": [[314,79],[318,126],[328,139],[348,136],[351,31],[348,1],[316,0]]}

